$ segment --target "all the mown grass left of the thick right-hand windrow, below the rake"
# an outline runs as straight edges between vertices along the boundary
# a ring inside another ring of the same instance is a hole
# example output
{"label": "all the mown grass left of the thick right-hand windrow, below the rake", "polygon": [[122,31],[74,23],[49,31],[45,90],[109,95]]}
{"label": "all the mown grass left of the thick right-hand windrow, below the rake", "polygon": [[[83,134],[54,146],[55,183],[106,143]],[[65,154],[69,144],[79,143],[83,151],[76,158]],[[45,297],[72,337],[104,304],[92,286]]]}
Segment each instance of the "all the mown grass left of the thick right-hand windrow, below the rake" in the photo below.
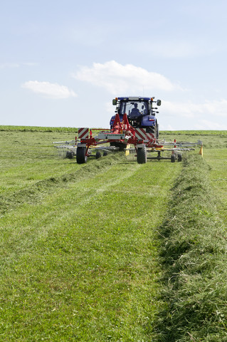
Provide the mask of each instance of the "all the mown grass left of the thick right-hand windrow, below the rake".
{"label": "all the mown grass left of the thick right-hand windrow, below the rake", "polygon": [[2,133],[0,339],[149,341],[154,228],[181,163],[76,165],[53,156],[52,133]]}

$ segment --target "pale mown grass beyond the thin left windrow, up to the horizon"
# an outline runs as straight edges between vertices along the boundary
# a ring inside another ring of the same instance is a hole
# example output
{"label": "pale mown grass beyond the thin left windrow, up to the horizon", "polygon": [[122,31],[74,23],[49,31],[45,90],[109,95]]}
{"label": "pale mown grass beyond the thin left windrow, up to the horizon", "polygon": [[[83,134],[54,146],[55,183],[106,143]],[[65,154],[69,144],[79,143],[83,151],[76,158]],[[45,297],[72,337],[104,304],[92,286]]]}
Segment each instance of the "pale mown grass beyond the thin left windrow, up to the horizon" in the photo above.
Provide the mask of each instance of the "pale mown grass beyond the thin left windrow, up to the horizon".
{"label": "pale mown grass beyond the thin left windrow, up to the horizon", "polygon": [[73,138],[72,133],[0,132],[0,195],[76,170],[75,160],[59,158],[53,147],[53,141]]}

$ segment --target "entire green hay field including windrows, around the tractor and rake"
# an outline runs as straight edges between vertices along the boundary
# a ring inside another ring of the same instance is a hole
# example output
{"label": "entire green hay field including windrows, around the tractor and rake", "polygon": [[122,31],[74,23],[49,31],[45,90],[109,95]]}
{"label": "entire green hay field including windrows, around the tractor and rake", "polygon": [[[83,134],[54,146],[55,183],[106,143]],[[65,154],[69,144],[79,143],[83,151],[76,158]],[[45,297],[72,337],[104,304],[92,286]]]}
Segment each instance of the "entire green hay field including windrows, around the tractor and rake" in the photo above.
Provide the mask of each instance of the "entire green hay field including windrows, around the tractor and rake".
{"label": "entire green hay field including windrows, around the tractor and rake", "polygon": [[227,341],[227,132],[145,165],[57,157],[74,135],[0,126],[0,341]]}

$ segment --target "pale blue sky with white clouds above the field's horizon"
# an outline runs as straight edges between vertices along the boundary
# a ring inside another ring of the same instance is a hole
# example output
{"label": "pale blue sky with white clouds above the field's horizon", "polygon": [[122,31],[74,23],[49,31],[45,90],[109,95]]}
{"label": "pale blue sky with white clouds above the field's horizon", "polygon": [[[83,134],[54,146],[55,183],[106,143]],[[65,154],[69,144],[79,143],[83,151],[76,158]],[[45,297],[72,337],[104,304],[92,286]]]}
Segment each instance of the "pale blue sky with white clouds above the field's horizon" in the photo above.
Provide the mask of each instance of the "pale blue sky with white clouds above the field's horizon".
{"label": "pale blue sky with white clouds above the field's horizon", "polygon": [[160,130],[227,130],[226,0],[1,0],[0,125],[109,128],[161,99]]}

